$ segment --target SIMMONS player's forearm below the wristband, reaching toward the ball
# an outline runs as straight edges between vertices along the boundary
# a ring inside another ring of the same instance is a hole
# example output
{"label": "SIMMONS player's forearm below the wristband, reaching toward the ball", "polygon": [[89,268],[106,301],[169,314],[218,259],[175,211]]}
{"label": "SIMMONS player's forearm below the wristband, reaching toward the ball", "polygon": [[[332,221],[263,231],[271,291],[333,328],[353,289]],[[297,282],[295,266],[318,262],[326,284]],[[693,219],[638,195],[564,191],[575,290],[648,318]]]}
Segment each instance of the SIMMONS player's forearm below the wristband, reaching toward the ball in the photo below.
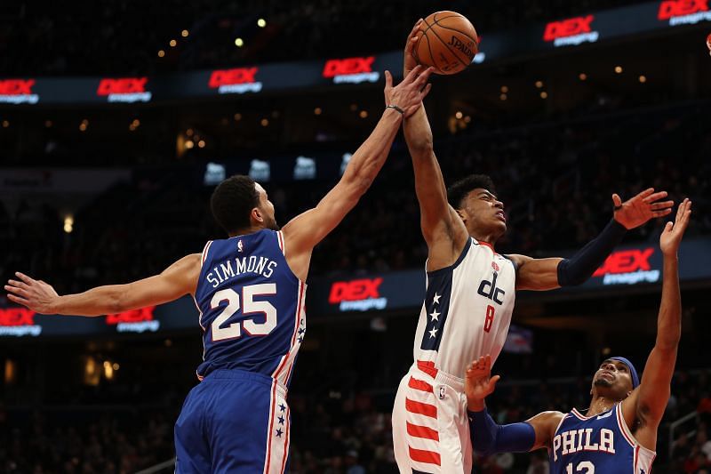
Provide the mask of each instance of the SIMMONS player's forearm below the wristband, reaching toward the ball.
{"label": "SIMMONS player's forearm below the wristband, reaching toward the ball", "polygon": [[386,108],[371,135],[354,153],[343,179],[356,185],[361,193],[371,186],[385,164],[402,120],[399,112]]}

